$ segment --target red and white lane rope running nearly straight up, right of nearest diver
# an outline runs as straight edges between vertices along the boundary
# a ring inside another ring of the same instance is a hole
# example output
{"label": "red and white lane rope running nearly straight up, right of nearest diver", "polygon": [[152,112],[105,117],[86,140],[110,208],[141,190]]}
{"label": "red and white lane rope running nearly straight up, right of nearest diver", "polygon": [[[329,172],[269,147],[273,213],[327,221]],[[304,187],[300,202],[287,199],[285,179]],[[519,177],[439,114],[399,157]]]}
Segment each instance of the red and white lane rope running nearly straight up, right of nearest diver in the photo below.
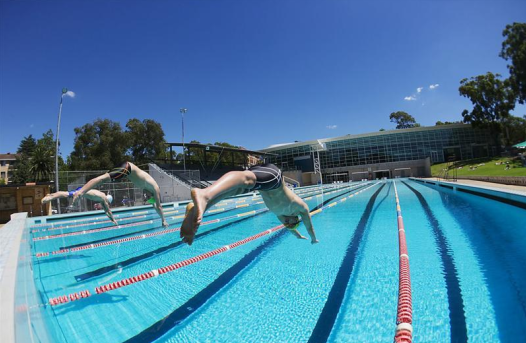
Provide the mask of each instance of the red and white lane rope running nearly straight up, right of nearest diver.
{"label": "red and white lane rope running nearly straight up, right of nearest diver", "polygon": [[411,343],[413,340],[413,303],[411,299],[411,275],[409,273],[409,255],[405,239],[404,220],[402,209],[396,189],[396,181],[393,181],[396,199],[396,216],[398,221],[398,250],[399,275],[398,275],[398,309],[396,314],[396,333],[394,342]]}

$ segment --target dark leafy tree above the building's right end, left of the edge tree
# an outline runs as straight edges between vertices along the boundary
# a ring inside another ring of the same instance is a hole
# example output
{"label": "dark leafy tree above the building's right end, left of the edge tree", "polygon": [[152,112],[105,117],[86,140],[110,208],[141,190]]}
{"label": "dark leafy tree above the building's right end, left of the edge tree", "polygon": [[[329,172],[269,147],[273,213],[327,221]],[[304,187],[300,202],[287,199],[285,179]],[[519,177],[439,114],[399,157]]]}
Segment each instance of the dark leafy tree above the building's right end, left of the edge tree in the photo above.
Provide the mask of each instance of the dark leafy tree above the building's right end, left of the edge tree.
{"label": "dark leafy tree above the building's right end, left of the edge tree", "polygon": [[488,72],[486,75],[462,79],[460,95],[473,103],[473,109],[462,111],[464,123],[473,127],[488,128],[500,153],[499,133],[501,124],[515,108],[515,93],[509,80],[500,80],[501,75]]}

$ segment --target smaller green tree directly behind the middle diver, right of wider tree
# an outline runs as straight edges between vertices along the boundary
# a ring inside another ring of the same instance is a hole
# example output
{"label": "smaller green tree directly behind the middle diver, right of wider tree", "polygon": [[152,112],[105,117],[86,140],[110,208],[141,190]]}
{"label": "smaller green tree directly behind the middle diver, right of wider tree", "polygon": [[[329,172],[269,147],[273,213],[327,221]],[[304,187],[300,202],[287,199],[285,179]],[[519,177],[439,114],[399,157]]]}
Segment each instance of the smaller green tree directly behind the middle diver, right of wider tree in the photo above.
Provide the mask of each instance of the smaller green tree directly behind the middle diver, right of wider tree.
{"label": "smaller green tree directly behind the middle diver, right of wider tree", "polygon": [[136,164],[165,158],[166,141],[161,124],[152,119],[130,119],[126,123],[127,142],[131,159]]}

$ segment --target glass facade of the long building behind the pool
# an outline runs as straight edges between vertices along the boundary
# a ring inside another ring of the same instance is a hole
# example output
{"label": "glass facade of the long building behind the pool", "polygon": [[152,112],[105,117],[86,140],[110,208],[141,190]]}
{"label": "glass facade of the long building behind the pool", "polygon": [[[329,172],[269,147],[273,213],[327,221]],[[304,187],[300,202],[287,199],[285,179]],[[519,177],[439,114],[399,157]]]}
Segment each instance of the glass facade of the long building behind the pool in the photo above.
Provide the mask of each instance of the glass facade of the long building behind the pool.
{"label": "glass facade of the long building behind the pool", "polygon": [[261,151],[283,170],[313,171],[319,154],[323,172],[335,168],[430,158],[431,163],[486,157],[494,153],[487,130],[467,124],[380,131],[307,142],[281,144]]}

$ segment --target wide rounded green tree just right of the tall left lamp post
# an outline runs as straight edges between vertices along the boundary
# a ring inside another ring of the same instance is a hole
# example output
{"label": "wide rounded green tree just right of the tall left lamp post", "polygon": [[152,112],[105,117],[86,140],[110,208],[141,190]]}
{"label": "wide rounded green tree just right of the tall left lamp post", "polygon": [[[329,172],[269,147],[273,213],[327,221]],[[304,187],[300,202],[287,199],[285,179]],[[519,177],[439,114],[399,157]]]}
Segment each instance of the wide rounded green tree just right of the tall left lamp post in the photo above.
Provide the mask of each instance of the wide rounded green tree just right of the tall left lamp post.
{"label": "wide rounded green tree just right of the tall left lamp post", "polygon": [[75,128],[72,170],[108,170],[127,160],[127,135],[119,123],[97,119]]}

